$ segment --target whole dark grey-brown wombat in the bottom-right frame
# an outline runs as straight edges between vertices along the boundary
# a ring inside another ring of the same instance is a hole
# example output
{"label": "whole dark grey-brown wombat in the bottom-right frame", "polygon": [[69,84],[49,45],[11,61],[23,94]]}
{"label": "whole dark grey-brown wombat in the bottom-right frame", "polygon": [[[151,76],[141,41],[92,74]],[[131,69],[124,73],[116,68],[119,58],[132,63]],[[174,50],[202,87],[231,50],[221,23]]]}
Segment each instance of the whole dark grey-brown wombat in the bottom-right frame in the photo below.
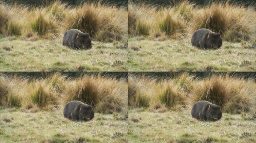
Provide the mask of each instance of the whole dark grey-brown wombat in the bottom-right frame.
{"label": "whole dark grey-brown wombat in the bottom-right frame", "polygon": [[192,117],[201,121],[217,121],[222,117],[220,107],[208,101],[198,101],[193,105]]}

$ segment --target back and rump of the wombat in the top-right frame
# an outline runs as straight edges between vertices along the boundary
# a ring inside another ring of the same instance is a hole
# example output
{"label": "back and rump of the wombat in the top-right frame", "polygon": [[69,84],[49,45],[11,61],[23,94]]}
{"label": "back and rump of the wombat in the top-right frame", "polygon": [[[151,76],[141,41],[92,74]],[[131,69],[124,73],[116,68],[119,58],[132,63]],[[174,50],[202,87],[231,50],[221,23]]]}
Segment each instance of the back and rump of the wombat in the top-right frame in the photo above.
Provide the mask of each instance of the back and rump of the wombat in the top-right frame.
{"label": "back and rump of the wombat in the top-right frame", "polygon": [[195,47],[200,48],[199,42],[209,32],[212,32],[212,31],[210,31],[209,29],[205,29],[205,28],[197,30],[196,32],[193,33],[193,36],[191,38],[191,44]]}

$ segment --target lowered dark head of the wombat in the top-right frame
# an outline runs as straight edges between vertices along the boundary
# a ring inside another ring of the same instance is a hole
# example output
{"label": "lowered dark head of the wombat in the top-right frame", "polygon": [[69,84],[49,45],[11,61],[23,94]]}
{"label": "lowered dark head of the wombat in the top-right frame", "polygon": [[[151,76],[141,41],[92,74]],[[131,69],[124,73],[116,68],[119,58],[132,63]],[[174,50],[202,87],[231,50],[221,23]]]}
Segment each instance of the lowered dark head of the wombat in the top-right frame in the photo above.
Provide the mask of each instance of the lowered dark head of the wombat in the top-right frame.
{"label": "lowered dark head of the wombat in the top-right frame", "polygon": [[218,49],[222,45],[220,33],[209,32],[205,41],[205,48]]}

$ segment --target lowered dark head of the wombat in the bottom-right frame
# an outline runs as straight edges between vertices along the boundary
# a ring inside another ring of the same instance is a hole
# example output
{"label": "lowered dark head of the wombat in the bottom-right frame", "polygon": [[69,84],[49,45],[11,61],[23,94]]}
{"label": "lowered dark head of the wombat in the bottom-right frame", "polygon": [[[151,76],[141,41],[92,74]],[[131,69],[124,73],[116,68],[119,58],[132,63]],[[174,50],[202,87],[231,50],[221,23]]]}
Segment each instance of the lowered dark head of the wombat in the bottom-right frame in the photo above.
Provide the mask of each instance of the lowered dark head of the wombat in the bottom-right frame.
{"label": "lowered dark head of the wombat in the bottom-right frame", "polygon": [[222,112],[219,106],[210,104],[206,111],[207,120],[217,121],[222,117]]}

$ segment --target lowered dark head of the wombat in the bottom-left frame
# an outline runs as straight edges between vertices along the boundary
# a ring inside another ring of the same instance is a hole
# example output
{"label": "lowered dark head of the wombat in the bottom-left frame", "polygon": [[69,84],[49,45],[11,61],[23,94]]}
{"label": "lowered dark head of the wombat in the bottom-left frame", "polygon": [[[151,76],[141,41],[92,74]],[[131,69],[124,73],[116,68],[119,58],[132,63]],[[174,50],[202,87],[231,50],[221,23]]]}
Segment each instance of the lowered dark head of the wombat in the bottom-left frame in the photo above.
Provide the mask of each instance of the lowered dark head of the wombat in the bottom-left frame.
{"label": "lowered dark head of the wombat in the bottom-left frame", "polygon": [[94,111],[92,110],[91,105],[81,104],[79,106],[78,117],[80,121],[90,121],[94,118]]}

